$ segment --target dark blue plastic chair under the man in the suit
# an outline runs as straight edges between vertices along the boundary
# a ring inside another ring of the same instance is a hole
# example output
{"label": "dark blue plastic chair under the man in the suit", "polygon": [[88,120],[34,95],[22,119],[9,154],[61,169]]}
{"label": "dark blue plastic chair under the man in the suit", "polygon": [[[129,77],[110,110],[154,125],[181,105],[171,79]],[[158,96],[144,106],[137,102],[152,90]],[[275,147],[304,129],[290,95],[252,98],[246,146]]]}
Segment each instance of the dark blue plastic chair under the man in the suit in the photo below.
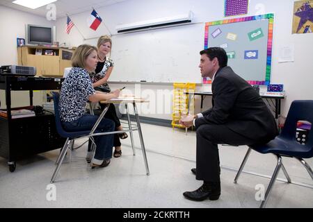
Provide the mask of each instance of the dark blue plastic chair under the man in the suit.
{"label": "dark blue plastic chair under the man in the suit", "polygon": [[307,169],[307,172],[310,174],[313,180],[312,169],[309,164],[303,160],[303,158],[310,158],[313,156],[313,129],[310,130],[310,133],[307,137],[307,143],[305,145],[299,144],[296,142],[296,128],[297,123],[300,120],[309,121],[313,123],[313,101],[312,100],[303,100],[303,101],[293,101],[291,103],[289,112],[287,114],[287,119],[284,123],[284,128],[282,128],[282,132],[280,135],[275,137],[271,142],[267,144],[261,145],[253,145],[249,146],[246,156],[241,163],[238,173],[236,174],[236,178],[234,179],[234,183],[237,182],[241,171],[243,170],[244,165],[250,155],[251,149],[259,152],[259,153],[273,153],[278,158],[278,163],[276,165],[273,176],[271,177],[271,181],[266,189],[266,194],[264,196],[264,200],[260,205],[261,208],[265,207],[266,202],[268,200],[268,196],[271,193],[271,189],[273,184],[278,176],[280,168],[286,176],[287,181],[291,183],[291,179],[282,164],[282,156],[283,157],[295,157],[298,159],[301,164]]}

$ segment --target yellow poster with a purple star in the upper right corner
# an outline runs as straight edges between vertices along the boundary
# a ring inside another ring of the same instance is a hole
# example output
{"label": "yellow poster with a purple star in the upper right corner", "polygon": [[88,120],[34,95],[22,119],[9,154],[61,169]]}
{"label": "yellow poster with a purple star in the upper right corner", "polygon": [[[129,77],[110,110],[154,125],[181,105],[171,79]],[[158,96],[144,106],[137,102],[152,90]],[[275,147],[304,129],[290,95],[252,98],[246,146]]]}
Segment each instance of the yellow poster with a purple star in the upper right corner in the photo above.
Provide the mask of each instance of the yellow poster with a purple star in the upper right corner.
{"label": "yellow poster with a purple star in the upper right corner", "polygon": [[312,33],[313,30],[313,0],[294,2],[294,22],[292,33]]}

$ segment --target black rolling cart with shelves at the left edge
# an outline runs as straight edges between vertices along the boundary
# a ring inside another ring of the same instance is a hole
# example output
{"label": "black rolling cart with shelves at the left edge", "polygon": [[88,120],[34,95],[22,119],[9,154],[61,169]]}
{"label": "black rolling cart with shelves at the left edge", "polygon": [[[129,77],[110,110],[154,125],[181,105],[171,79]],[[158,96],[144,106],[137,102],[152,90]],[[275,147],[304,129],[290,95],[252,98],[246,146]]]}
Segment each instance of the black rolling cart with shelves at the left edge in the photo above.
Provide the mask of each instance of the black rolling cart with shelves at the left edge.
{"label": "black rolling cart with shelves at the left edge", "polygon": [[54,114],[45,112],[35,117],[12,119],[11,91],[29,91],[29,103],[33,105],[33,90],[61,89],[63,78],[38,78],[3,76],[0,89],[6,94],[8,117],[0,117],[0,156],[8,160],[11,172],[16,161],[38,153],[61,148],[65,139],[56,132]]}

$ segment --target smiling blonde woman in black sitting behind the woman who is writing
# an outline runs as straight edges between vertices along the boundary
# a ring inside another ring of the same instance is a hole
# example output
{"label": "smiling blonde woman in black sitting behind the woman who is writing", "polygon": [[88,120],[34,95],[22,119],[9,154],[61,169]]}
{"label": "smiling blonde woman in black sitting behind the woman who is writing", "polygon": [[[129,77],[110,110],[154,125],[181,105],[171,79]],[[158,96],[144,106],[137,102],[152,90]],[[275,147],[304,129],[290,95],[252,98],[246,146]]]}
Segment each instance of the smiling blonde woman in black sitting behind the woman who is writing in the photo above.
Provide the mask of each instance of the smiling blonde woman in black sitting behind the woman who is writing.
{"label": "smiling blonde woman in black sitting behind the woman who is writing", "polygon": [[[96,90],[102,92],[110,92],[111,89],[107,83],[109,77],[111,76],[113,70],[113,60],[111,58],[107,58],[107,54],[111,52],[112,40],[109,35],[102,35],[99,37],[97,42],[97,53],[98,53],[98,64],[95,69],[95,73],[90,74],[90,79],[93,82],[93,87]],[[104,109],[104,104],[99,103],[102,110]],[[111,104],[109,106],[108,111],[104,115],[105,118],[111,119],[115,123],[115,130],[123,130],[122,125],[120,124],[120,119],[118,119],[118,115],[116,114],[115,105]],[[114,135],[113,146],[114,157],[120,157],[122,155],[121,143],[120,139],[126,139],[128,137],[127,133],[119,133]]]}

